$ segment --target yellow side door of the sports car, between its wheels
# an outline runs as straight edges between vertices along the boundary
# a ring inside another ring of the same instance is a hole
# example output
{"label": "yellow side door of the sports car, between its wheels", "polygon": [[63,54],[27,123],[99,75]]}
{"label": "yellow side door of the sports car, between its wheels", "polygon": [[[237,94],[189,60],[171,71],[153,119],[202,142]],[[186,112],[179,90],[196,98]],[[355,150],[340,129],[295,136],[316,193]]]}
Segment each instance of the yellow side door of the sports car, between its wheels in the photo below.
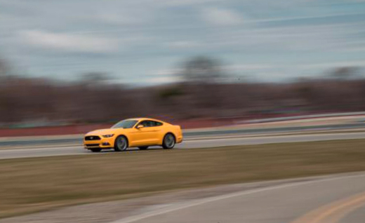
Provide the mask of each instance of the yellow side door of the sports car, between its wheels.
{"label": "yellow side door of the sports car, between its wheels", "polygon": [[[137,128],[142,125],[143,128]],[[133,144],[138,146],[153,145],[158,142],[158,128],[154,126],[154,121],[144,120],[140,121],[133,130],[132,140]]]}

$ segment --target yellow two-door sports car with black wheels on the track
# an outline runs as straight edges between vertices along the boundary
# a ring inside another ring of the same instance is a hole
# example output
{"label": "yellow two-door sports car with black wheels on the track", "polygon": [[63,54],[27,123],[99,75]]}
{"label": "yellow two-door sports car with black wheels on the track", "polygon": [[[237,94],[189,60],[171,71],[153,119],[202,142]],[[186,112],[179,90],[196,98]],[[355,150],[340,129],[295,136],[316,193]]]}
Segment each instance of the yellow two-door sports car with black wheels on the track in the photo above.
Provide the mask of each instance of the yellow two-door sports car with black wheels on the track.
{"label": "yellow two-door sports car with black wheels on the track", "polygon": [[102,149],[124,151],[128,147],[147,149],[161,146],[172,149],[176,143],[183,142],[180,126],[173,126],[157,119],[126,119],[112,128],[95,130],[84,137],[84,147],[93,152]]}

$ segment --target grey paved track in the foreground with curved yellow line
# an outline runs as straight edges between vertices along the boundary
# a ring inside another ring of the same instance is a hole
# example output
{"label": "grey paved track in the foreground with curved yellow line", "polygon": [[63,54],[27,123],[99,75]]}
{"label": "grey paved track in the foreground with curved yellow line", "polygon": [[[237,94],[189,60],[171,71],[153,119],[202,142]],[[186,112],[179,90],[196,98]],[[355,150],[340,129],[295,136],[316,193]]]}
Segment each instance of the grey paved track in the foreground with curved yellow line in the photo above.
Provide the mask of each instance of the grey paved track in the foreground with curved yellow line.
{"label": "grey paved track in the foreground with curved yellow line", "polygon": [[328,177],[177,203],[114,223],[364,223],[365,175]]}

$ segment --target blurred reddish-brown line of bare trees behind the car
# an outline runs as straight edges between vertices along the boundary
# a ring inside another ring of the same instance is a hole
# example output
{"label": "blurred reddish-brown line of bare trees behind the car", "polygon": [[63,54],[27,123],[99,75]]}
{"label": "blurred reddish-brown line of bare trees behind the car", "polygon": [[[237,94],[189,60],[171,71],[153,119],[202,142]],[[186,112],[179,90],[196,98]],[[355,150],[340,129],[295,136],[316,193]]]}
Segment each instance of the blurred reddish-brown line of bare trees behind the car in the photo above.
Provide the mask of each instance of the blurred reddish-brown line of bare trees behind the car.
{"label": "blurred reddish-brown line of bare trees behind the car", "polygon": [[[4,75],[0,62],[0,123],[113,122],[135,116],[165,119],[270,116],[365,110],[361,69],[341,67],[317,79],[285,83],[225,81],[217,60],[193,58],[182,81],[131,88],[98,73],[74,82]],[[99,78],[98,78],[99,77]]]}

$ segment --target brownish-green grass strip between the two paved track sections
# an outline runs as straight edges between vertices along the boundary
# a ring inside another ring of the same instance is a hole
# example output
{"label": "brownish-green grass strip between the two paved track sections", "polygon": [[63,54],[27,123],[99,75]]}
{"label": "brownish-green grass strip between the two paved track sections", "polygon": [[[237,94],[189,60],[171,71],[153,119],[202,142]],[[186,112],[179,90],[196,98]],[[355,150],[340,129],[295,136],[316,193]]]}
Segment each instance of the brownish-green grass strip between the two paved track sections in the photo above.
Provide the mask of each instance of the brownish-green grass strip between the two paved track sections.
{"label": "brownish-green grass strip between the two paved track sections", "polygon": [[170,189],[365,170],[365,140],[0,161],[0,217]]}

